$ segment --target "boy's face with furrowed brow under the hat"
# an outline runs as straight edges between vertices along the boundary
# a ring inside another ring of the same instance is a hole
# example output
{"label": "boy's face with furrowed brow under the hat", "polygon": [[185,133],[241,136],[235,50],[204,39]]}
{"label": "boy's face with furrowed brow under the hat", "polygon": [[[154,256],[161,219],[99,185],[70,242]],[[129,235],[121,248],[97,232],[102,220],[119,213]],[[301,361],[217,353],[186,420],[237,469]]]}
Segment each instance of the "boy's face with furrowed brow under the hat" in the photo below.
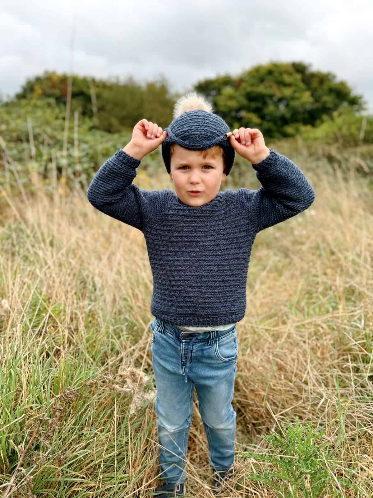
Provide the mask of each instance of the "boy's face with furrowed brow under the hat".
{"label": "boy's face with furrowed brow under the hat", "polygon": [[[214,199],[225,181],[221,155],[203,159],[198,150],[188,150],[176,145],[171,156],[170,178],[174,182],[176,194],[188,206],[202,206]],[[198,195],[189,194],[199,190]]]}

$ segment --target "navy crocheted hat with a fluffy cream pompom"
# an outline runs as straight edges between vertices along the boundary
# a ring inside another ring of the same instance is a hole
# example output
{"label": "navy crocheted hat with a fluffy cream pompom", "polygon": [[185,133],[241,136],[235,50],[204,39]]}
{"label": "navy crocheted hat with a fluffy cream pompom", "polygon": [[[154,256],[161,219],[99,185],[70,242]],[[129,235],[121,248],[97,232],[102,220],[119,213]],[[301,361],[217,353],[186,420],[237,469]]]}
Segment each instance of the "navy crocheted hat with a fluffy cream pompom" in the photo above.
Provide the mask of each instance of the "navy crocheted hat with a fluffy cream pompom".
{"label": "navy crocheted hat with a fluffy cream pompom", "polygon": [[195,92],[181,97],[174,106],[174,120],[165,128],[167,137],[162,142],[162,157],[170,173],[170,147],[177,143],[189,150],[204,150],[220,145],[225,154],[225,174],[229,175],[234,163],[235,150],[227,133],[228,124],[214,114],[211,104]]}

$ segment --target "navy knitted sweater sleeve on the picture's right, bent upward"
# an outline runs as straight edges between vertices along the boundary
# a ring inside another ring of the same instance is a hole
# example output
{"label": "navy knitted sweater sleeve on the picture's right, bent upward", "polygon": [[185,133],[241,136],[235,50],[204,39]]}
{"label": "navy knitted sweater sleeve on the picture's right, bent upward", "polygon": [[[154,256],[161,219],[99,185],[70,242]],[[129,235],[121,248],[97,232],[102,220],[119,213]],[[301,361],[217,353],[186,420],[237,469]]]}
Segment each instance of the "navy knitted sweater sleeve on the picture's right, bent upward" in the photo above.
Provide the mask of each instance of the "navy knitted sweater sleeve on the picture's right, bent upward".
{"label": "navy knitted sweater sleeve on the picture's right, bent upward", "polygon": [[302,171],[286,156],[270,148],[270,155],[252,164],[262,186],[240,188],[239,203],[256,225],[256,233],[287,220],[313,203],[315,192]]}

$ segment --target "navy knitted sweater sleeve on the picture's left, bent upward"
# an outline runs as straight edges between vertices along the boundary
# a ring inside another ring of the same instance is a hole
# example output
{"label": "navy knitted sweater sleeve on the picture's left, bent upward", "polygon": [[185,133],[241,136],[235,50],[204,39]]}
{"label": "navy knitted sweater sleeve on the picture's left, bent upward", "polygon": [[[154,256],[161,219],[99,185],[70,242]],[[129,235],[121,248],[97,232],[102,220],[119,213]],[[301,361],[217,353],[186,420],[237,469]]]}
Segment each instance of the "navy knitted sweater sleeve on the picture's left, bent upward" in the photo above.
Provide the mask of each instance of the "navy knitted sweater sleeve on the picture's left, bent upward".
{"label": "navy knitted sweater sleeve on the picture's left, bent upward", "polygon": [[94,175],[87,199],[98,211],[144,232],[164,199],[163,191],[143,190],[132,183],[140,162],[118,149]]}

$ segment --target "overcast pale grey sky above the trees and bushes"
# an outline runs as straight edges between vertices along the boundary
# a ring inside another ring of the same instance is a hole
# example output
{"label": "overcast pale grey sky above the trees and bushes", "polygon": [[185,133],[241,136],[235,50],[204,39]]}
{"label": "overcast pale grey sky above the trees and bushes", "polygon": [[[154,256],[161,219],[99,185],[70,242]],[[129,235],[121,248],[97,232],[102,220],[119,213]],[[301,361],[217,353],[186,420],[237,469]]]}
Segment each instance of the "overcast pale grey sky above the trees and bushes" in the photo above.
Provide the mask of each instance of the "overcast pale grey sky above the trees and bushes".
{"label": "overcast pale grey sky above the trees and bushes", "polygon": [[[174,91],[257,64],[302,61],[362,94],[373,113],[371,0],[2,0],[0,92],[45,69],[164,75]],[[72,50],[73,47],[73,50]]]}

